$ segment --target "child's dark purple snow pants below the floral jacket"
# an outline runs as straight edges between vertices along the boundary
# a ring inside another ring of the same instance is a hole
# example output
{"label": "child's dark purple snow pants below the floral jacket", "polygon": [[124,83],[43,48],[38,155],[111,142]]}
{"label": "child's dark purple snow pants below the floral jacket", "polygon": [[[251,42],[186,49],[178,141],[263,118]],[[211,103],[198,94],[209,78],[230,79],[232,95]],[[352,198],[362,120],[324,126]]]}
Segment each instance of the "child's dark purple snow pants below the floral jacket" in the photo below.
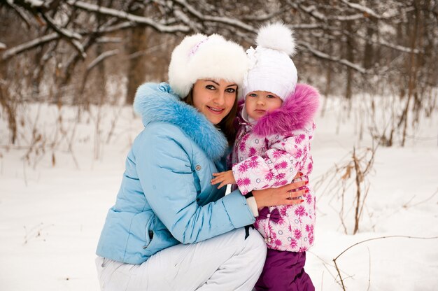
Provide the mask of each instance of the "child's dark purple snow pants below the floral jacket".
{"label": "child's dark purple snow pants below the floral jacket", "polygon": [[268,248],[266,262],[255,290],[314,291],[315,287],[304,271],[306,253],[286,252]]}

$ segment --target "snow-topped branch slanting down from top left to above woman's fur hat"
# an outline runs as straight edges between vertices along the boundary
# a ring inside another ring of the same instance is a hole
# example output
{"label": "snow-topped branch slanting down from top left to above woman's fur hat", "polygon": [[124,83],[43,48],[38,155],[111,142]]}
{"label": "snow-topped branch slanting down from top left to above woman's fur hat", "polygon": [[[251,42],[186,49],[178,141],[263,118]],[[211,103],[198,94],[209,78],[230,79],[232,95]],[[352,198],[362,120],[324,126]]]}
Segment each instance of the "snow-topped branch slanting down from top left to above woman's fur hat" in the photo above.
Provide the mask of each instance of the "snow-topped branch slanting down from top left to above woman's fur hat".
{"label": "snow-topped branch slanting down from top left to above woman's fur hat", "polygon": [[137,16],[130,13],[126,13],[125,11],[97,6],[91,3],[86,3],[84,1],[68,0],[67,3],[69,3],[70,6],[80,8],[83,10],[100,13],[102,15],[110,15],[117,17],[119,19],[129,20],[131,22],[136,22],[140,24],[146,24],[150,27],[153,27],[157,31],[169,32],[169,33],[178,32],[178,31],[182,31],[182,32],[190,31],[190,28],[185,25],[167,26],[160,24],[159,22],[156,22],[149,17]]}

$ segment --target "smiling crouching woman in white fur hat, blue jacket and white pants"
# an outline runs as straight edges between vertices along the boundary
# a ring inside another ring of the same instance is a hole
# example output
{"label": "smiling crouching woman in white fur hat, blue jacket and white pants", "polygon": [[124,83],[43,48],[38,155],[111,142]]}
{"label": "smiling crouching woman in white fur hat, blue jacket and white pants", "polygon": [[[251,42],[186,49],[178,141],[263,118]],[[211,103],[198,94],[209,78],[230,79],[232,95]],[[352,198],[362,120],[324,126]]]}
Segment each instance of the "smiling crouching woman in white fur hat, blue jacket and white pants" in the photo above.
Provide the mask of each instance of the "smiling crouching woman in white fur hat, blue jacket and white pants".
{"label": "smiling crouching woman in white fur hat, blue jacket and white pants", "polygon": [[[240,45],[218,35],[186,37],[169,83],[139,87],[136,137],[97,246],[102,290],[251,290],[266,256],[251,225],[257,208],[295,204],[304,182],[254,191],[212,186],[225,170],[237,91],[248,67]],[[180,100],[183,97],[183,101]],[[248,232],[248,233],[246,233]],[[248,235],[249,234],[249,235]]]}

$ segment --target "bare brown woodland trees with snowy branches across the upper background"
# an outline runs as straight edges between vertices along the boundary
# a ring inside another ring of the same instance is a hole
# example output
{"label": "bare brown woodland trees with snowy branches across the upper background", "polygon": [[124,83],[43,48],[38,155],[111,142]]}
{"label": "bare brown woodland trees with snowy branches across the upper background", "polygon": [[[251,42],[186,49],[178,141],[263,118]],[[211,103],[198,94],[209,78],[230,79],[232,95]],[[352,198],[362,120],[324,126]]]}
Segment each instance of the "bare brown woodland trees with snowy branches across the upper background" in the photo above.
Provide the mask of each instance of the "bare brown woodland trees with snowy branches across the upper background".
{"label": "bare brown woodland trees with snowy branches across the upper background", "polygon": [[111,77],[127,86],[130,104],[141,82],[165,80],[171,48],[186,34],[249,46],[260,24],[281,20],[295,30],[302,80],[348,99],[398,90],[405,106],[388,132],[406,136],[435,106],[437,15],[435,0],[1,1],[3,90],[20,88],[13,101],[102,103]]}

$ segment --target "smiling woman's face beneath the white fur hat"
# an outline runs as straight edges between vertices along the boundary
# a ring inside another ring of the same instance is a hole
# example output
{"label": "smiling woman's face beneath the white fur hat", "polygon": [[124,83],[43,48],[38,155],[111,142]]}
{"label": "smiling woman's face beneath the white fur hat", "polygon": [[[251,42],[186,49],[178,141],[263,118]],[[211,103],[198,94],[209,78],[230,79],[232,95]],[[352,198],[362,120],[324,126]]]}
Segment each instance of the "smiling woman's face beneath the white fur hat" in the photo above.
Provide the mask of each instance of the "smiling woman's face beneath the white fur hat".
{"label": "smiling woman's face beneath the white fur hat", "polygon": [[193,85],[193,106],[217,125],[231,111],[237,85],[225,80],[200,79]]}

